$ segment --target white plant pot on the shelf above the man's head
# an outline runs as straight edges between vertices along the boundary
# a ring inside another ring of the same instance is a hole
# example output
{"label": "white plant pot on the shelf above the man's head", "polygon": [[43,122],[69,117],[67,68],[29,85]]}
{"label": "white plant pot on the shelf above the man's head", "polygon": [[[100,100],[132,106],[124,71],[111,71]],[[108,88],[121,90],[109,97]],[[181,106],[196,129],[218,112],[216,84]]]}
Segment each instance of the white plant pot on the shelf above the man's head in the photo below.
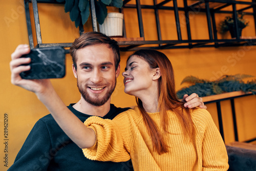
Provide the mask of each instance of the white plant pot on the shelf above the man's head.
{"label": "white plant pot on the shelf above the man's head", "polygon": [[118,12],[108,13],[104,23],[99,25],[99,31],[107,36],[122,36],[123,14]]}

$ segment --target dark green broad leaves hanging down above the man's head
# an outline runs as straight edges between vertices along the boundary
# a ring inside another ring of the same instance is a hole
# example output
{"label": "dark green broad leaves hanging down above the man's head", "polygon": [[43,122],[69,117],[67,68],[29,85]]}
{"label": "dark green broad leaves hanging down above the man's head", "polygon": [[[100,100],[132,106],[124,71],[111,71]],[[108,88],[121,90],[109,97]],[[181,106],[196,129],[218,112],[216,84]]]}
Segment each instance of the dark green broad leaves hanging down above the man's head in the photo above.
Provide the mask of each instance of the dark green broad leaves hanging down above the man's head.
{"label": "dark green broad leaves hanging down above the man's head", "polygon": [[[84,25],[90,15],[89,0],[56,0],[59,3],[65,2],[65,12],[70,12],[70,19],[75,22],[75,26]],[[114,6],[121,8],[123,6],[122,0],[95,0],[96,18],[99,24],[103,24],[108,9],[106,6]]]}

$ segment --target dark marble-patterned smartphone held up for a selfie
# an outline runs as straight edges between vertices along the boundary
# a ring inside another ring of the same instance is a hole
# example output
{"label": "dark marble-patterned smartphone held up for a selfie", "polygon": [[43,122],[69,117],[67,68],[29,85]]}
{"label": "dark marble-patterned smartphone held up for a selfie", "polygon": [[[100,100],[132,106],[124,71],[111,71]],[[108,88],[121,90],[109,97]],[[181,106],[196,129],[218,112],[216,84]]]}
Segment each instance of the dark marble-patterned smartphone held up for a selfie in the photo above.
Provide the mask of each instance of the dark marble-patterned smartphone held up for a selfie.
{"label": "dark marble-patterned smartphone held up for a selfie", "polygon": [[20,73],[23,79],[63,78],[66,75],[65,49],[61,47],[35,48],[29,54],[31,69]]}

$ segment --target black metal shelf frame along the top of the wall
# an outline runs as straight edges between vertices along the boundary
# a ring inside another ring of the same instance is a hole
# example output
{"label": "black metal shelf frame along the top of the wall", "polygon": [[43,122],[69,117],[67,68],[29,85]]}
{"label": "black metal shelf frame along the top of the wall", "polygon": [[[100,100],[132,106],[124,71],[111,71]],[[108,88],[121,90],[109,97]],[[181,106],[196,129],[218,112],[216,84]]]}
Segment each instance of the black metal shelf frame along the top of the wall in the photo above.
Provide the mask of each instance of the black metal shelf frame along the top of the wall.
{"label": "black metal shelf frame along the top of the wall", "polygon": [[[98,31],[97,22],[96,22],[96,14],[95,14],[95,0],[90,0],[91,3],[91,16],[92,16],[92,28],[94,31]],[[238,33],[238,25],[237,21],[235,21],[236,25],[236,38],[232,39],[218,39],[217,37],[217,26],[215,23],[215,14],[216,13],[229,13],[233,14],[235,17],[237,16],[237,12],[244,12],[247,9],[253,9],[253,12],[245,12],[246,15],[252,15],[254,17],[254,25],[256,24],[256,0],[251,0],[251,2],[242,2],[242,1],[231,1],[231,0],[201,0],[195,1],[195,3],[188,5],[187,0],[183,0],[184,7],[178,7],[177,0],[165,0],[159,4],[157,4],[157,0],[152,0],[154,5],[141,5],[140,0],[136,0],[136,4],[129,4],[131,0],[124,0],[123,7],[120,9],[120,12],[123,13],[123,9],[125,8],[134,8],[137,10],[138,16],[138,27],[139,34],[143,40],[134,40],[127,41],[125,38],[123,41],[118,41],[120,45],[121,51],[134,51],[139,49],[179,49],[179,48],[203,48],[203,47],[237,47],[256,45],[256,37],[246,38],[239,37]],[[55,3],[55,4],[63,4],[58,3],[56,0],[25,0],[25,10],[26,10],[26,18],[27,18],[27,26],[29,33],[29,42],[31,48],[41,48],[41,47],[52,47],[52,46],[61,46],[61,47],[70,47],[72,45],[71,42],[68,43],[59,43],[59,44],[43,44],[41,40],[40,33],[40,24],[37,10],[37,3]],[[172,6],[166,6],[167,3],[173,2]],[[36,39],[37,44],[34,46],[33,44],[33,35],[30,21],[30,13],[29,13],[29,3],[33,4],[33,14],[35,18],[35,30],[36,30]],[[241,4],[246,7],[237,10],[236,5]],[[223,10],[225,7],[232,7],[231,11]],[[156,27],[157,27],[157,40],[145,40],[144,29],[143,29],[143,20],[142,20],[142,10],[143,9],[154,9],[155,17],[156,17]],[[160,10],[173,10],[176,21],[176,30],[177,30],[177,40],[163,40],[161,36],[161,27],[159,22],[159,11]],[[180,19],[179,19],[179,11],[183,11],[186,16],[186,31],[187,31],[187,39],[182,39],[181,35],[181,27],[180,27]],[[197,11],[203,12],[207,18],[207,25],[205,27],[208,28],[209,39],[192,39],[190,32],[190,23],[189,23],[189,12]],[[125,22],[124,22],[125,23]],[[256,28],[256,25],[255,25]],[[79,26],[80,34],[83,32],[83,26]],[[256,31],[255,31],[256,32]],[[123,36],[126,37],[125,25],[123,27]],[[143,46],[142,46],[143,45]],[[145,46],[151,45],[151,46]],[[68,51],[67,51],[68,52]]]}

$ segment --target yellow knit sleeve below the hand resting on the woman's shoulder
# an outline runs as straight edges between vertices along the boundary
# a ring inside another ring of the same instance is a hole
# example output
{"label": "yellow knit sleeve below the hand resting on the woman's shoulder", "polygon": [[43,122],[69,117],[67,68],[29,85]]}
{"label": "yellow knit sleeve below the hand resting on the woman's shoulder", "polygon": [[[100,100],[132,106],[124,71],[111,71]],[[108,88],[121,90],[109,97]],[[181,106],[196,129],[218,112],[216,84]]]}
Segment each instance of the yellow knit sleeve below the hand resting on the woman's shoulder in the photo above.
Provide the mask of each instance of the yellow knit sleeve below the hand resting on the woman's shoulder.
{"label": "yellow knit sleeve below the hand resting on the woman's shoulder", "polygon": [[207,110],[197,110],[204,125],[202,134],[202,170],[227,170],[228,156],[225,144]]}

